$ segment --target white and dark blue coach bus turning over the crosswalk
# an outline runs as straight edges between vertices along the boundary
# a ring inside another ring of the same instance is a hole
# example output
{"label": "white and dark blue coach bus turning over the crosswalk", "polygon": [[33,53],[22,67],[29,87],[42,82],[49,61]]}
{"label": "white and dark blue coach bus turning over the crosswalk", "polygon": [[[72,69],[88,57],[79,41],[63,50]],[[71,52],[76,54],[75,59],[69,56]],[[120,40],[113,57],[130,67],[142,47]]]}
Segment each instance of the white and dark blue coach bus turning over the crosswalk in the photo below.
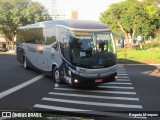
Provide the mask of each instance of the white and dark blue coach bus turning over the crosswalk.
{"label": "white and dark blue coach bus turning over the crosswalk", "polygon": [[115,81],[116,48],[110,29],[94,21],[51,20],[17,30],[17,60],[55,82],[98,85]]}

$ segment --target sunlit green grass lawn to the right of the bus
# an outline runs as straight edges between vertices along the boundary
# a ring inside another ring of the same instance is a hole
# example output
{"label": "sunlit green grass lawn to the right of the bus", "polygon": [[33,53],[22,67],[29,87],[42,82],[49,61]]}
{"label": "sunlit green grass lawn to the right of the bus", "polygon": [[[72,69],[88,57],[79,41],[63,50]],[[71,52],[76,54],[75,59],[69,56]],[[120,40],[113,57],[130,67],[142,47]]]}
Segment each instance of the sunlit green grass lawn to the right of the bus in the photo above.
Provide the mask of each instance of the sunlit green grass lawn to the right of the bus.
{"label": "sunlit green grass lawn to the right of the bus", "polygon": [[[126,52],[126,53],[125,53]],[[125,58],[126,55],[126,58]],[[124,64],[160,64],[160,48],[150,50],[117,50],[117,62]]]}

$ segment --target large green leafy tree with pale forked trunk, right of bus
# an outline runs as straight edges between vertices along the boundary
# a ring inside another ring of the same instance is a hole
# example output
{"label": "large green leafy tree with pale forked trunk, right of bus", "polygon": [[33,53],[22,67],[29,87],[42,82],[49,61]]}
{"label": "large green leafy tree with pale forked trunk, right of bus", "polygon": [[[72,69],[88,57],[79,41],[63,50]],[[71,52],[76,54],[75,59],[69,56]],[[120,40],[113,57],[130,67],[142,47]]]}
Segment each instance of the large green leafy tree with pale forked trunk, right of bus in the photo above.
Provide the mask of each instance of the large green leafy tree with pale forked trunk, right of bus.
{"label": "large green leafy tree with pale forked trunk, right of bus", "polygon": [[160,15],[156,3],[126,0],[112,4],[101,14],[100,20],[125,36],[128,43],[129,40],[133,42],[135,35],[153,35],[159,26]]}

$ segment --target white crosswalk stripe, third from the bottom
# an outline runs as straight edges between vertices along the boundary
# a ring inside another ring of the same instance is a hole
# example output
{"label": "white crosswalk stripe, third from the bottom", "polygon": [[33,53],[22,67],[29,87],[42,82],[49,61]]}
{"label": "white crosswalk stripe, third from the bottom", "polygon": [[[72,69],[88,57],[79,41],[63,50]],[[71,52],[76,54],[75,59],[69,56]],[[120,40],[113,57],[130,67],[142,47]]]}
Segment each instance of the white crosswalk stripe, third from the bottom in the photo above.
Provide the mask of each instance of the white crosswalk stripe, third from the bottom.
{"label": "white crosswalk stripe, third from the bottom", "polygon": [[99,99],[116,99],[116,100],[133,100],[139,101],[139,98],[129,98],[129,97],[111,97],[111,96],[97,96],[97,95],[81,95],[81,94],[69,94],[69,93],[57,93],[50,92],[50,95],[62,95],[62,96],[72,96],[72,97],[85,97],[85,98],[99,98]]}

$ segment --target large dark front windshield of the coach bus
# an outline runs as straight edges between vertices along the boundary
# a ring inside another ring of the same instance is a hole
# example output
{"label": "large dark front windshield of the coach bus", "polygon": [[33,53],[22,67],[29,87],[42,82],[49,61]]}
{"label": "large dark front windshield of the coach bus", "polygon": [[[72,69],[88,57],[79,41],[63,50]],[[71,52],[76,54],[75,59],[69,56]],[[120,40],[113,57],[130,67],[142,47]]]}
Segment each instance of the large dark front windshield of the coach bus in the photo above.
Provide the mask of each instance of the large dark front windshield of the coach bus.
{"label": "large dark front windshield of the coach bus", "polygon": [[116,64],[116,51],[107,31],[70,31],[72,62],[77,66],[105,67]]}

